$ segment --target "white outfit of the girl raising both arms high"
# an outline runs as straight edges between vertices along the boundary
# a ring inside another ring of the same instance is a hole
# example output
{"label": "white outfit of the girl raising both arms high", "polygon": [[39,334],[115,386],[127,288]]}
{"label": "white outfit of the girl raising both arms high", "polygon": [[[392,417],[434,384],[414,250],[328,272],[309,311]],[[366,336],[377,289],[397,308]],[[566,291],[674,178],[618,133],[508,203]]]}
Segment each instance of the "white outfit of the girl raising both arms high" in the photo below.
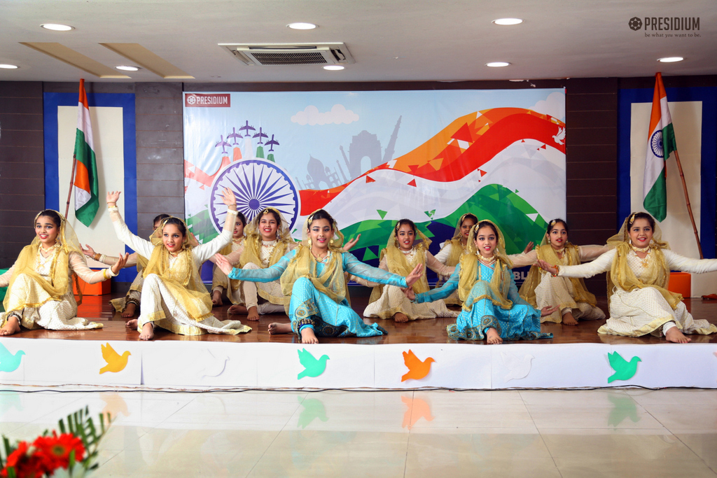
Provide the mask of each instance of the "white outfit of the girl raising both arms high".
{"label": "white outfit of the girl raising both arms high", "polygon": [[[115,233],[120,241],[127,244],[141,256],[152,257],[152,252],[156,247],[154,244],[132,234],[123,221],[122,216],[120,216],[118,209],[110,208],[110,216],[112,217],[112,224],[115,227]],[[229,216],[227,216],[227,222],[228,220]],[[217,254],[219,249],[229,244],[229,241],[232,240],[233,229],[233,221],[231,227],[227,227],[227,224],[224,224],[222,234],[219,234],[219,236],[206,244],[199,244],[193,247],[191,249],[191,256],[192,259],[194,259],[195,267],[200,267],[202,263],[214,256],[214,254]],[[171,269],[176,262],[177,258],[172,257],[170,254],[169,269]],[[161,312],[163,312],[163,314],[161,314]],[[159,320],[152,320],[153,317],[161,315],[164,317]],[[252,330],[247,325],[243,325],[242,322],[239,322],[239,320],[218,320],[217,317],[214,317],[211,310],[199,320],[189,317],[184,307],[181,307],[179,301],[170,293],[168,287],[164,285],[161,277],[157,274],[148,274],[147,277],[144,278],[142,285],[142,306],[141,314],[137,320],[137,329],[141,332],[143,325],[147,322],[151,322],[153,325],[158,325],[161,328],[171,330],[171,332],[181,335],[201,335],[206,332],[234,335]]]}

